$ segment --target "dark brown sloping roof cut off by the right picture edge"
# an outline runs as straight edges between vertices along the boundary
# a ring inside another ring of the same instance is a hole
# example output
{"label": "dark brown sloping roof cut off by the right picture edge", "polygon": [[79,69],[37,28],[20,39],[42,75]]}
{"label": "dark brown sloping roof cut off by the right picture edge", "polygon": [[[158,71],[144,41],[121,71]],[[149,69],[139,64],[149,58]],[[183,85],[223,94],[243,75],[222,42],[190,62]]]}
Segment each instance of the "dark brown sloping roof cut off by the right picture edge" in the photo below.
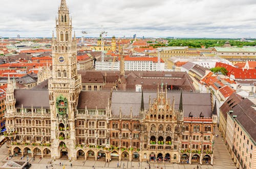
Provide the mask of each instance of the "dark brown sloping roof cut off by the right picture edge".
{"label": "dark brown sloping roof cut off by the right picture edge", "polygon": [[246,98],[232,108],[233,113],[230,115],[237,115],[234,120],[240,123],[254,142],[256,142],[256,110],[252,108],[253,105],[254,104]]}

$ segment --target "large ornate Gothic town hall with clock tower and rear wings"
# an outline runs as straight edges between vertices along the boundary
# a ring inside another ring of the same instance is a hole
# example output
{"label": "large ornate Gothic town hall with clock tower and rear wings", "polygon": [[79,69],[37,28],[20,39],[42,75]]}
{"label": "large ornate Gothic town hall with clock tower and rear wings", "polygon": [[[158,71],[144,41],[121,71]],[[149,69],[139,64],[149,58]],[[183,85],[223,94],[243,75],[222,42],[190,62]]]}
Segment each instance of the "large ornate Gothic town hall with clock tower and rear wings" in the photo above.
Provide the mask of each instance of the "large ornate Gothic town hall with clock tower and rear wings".
{"label": "large ornate Gothic town hall with clock tower and rear wings", "polygon": [[[61,0],[46,87],[18,90],[8,78],[5,135],[11,154],[213,164],[216,107],[210,94],[194,92],[186,73],[124,73],[122,66],[120,73],[78,73],[76,51]],[[136,83],[142,86],[137,92]]]}

